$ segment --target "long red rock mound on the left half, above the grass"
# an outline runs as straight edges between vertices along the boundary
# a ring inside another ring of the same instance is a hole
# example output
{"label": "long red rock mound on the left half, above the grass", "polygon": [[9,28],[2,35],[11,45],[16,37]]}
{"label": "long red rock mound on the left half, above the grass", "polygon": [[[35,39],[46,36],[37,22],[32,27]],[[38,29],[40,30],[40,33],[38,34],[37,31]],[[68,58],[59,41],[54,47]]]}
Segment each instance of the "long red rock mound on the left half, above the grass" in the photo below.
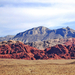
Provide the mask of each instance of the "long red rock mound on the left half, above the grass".
{"label": "long red rock mound on the left half, above the grass", "polygon": [[38,50],[23,43],[5,44],[0,46],[0,58],[36,60],[42,59],[43,55],[43,50]]}

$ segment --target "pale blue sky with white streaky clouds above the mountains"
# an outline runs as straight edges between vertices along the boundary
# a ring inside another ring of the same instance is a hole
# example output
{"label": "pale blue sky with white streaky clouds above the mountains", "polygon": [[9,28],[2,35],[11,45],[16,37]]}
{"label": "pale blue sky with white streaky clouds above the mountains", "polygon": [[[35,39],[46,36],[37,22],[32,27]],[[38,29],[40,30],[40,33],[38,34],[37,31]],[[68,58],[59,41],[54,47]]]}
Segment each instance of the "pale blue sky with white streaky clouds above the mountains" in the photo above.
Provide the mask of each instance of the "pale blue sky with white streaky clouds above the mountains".
{"label": "pale blue sky with white streaky clouds above the mountains", "polygon": [[38,26],[75,29],[75,1],[0,0],[0,37]]}

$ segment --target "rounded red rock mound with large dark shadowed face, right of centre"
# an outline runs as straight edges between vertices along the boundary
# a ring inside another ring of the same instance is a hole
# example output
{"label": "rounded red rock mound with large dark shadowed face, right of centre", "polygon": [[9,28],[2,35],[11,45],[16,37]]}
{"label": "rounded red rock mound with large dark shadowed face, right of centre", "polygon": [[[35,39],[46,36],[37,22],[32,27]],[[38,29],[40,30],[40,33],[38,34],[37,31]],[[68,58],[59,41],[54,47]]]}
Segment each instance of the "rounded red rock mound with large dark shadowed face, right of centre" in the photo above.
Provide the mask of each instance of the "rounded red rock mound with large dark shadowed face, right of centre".
{"label": "rounded red rock mound with large dark shadowed face, right of centre", "polygon": [[53,59],[67,59],[66,55],[69,53],[69,50],[64,45],[56,45],[45,49],[45,53],[49,58]]}

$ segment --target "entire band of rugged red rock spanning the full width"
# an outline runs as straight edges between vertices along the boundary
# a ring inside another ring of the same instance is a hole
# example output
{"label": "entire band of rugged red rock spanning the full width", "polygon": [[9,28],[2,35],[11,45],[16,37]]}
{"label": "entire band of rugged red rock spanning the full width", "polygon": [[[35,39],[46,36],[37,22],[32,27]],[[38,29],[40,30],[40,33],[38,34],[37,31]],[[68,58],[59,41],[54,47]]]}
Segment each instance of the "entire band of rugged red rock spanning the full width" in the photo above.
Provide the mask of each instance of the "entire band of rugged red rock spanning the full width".
{"label": "entire band of rugged red rock spanning the full width", "polygon": [[56,45],[38,50],[21,42],[15,44],[0,45],[0,58],[10,59],[75,59],[75,46]]}

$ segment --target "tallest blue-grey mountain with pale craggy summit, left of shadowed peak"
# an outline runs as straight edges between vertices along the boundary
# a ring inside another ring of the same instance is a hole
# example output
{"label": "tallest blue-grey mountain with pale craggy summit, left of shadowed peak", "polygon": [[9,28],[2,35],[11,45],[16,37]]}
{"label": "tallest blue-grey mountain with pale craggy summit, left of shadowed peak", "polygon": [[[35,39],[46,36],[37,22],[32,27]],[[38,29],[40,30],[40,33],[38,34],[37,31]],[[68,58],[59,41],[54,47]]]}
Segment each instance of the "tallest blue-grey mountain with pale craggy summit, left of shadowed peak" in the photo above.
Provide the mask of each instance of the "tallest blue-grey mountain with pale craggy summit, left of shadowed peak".
{"label": "tallest blue-grey mountain with pale craggy summit, left of shadowed peak", "polygon": [[18,33],[13,39],[21,40],[22,42],[42,41],[51,30],[46,27],[36,27],[25,32]]}

